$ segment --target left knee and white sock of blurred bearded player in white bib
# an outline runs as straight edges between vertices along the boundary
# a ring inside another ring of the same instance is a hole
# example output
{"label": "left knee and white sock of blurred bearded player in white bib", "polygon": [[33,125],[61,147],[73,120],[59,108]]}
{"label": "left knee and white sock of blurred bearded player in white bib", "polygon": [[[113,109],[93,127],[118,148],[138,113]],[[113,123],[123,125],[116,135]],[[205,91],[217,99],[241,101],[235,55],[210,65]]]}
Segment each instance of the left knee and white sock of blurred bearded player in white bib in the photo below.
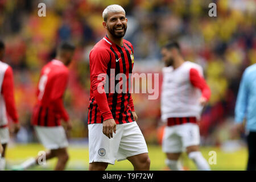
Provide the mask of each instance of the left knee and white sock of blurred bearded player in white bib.
{"label": "left knee and white sock of blurred bearded player in white bib", "polygon": [[183,171],[183,168],[181,166],[181,163],[179,161],[181,152],[179,153],[166,153],[167,159],[166,159],[166,165],[172,170],[172,171]]}

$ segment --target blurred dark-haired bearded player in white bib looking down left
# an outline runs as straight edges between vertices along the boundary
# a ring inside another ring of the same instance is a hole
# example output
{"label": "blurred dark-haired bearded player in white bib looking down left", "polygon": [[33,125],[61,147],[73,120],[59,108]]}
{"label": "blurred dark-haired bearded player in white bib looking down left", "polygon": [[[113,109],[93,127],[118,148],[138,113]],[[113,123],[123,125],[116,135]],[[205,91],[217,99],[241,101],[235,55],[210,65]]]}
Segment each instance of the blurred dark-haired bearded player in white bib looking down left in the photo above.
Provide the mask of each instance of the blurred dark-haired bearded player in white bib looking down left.
{"label": "blurred dark-haired bearded player in white bib looking down left", "polygon": [[210,170],[199,150],[200,133],[197,125],[201,110],[210,98],[210,89],[200,65],[184,61],[177,42],[162,48],[163,85],[161,96],[162,121],[167,122],[163,134],[163,152],[171,170],[182,170],[179,163],[185,149],[197,169]]}

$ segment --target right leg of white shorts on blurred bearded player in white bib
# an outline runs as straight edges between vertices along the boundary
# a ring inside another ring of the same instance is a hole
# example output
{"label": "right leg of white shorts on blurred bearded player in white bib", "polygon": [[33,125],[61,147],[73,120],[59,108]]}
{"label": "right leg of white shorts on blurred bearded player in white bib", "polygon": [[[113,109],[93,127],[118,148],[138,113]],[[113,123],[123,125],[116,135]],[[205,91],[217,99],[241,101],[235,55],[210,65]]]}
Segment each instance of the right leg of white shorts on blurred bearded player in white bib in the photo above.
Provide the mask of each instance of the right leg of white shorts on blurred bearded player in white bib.
{"label": "right leg of white shorts on blurred bearded player in white bib", "polygon": [[180,125],[177,135],[180,136],[184,148],[196,150],[200,144],[199,126],[195,123]]}

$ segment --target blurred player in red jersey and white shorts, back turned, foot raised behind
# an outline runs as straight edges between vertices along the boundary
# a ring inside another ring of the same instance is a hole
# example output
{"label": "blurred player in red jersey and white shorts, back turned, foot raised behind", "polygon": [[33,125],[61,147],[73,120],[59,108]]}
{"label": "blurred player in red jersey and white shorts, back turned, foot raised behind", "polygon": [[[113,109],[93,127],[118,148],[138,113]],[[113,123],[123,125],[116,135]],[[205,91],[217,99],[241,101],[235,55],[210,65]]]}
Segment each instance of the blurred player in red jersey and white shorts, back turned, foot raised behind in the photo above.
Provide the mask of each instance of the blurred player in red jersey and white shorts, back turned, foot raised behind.
{"label": "blurred player in red jersey and white shorts, back turned, foot raised behind", "polygon": [[[75,47],[69,43],[63,43],[57,50],[55,59],[46,64],[40,74],[36,97],[38,101],[32,114],[32,125],[40,142],[49,151],[46,152],[46,160],[57,158],[55,170],[64,170],[68,162],[68,140],[61,119],[67,124],[67,130],[71,130],[69,116],[63,105],[63,95],[68,83],[68,65],[71,63]],[[40,156],[28,159],[13,170],[24,170],[39,164]]]}

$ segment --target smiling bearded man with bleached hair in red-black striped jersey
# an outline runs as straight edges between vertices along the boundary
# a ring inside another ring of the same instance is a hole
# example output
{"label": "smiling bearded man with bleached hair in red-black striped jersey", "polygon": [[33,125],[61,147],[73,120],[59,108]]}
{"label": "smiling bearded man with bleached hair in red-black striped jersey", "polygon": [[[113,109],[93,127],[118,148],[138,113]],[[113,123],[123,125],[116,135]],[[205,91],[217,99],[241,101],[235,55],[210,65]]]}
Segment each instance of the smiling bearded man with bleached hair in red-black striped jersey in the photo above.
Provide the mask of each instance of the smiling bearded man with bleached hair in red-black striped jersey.
{"label": "smiling bearded man with bleached hair in red-black striped jersey", "polygon": [[[107,34],[93,47],[89,56],[89,170],[105,170],[115,160],[125,159],[133,164],[134,170],[149,170],[147,145],[137,125],[138,117],[128,92],[134,50],[132,44],[123,39],[127,28],[125,10],[119,5],[110,5],[102,17]],[[122,78],[122,91],[105,88],[107,76],[109,85],[113,83],[114,88],[120,86],[119,80],[111,79],[119,73],[126,75]]]}

